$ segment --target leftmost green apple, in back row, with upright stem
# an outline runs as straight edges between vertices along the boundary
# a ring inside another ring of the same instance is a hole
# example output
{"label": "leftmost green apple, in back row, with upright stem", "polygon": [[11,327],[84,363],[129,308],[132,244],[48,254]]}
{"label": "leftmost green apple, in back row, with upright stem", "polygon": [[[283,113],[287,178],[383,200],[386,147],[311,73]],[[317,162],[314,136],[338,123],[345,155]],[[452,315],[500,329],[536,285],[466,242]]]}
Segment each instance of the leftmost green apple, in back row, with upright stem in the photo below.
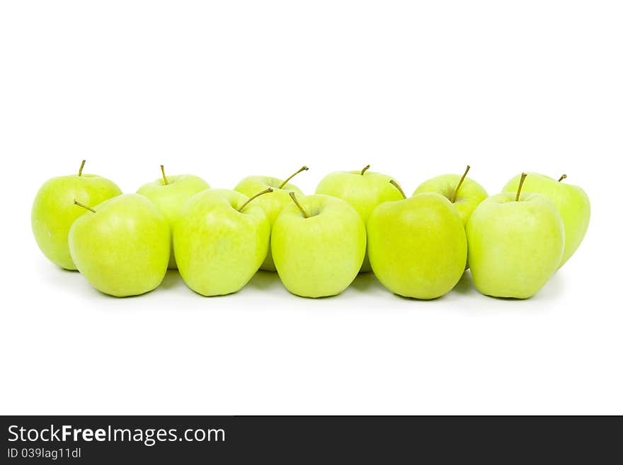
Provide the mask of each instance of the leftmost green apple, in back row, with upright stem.
{"label": "leftmost green apple, in back row, with upright stem", "polygon": [[67,243],[69,228],[85,212],[74,205],[74,199],[97,205],[121,195],[121,189],[113,181],[83,174],[84,163],[83,160],[78,174],[47,180],[35,197],[30,215],[39,248],[52,263],[66,270],[76,270]]}

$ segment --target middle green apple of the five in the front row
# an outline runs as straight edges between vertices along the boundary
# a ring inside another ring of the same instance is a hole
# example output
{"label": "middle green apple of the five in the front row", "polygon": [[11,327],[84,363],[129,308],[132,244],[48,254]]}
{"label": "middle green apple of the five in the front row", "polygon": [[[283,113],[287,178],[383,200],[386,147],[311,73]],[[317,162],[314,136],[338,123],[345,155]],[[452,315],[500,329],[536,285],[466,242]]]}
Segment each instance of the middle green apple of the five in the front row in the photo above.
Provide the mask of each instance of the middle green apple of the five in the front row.
{"label": "middle green apple of the five in the front row", "polygon": [[307,195],[290,202],[273,225],[271,244],[283,285],[301,297],[340,294],[357,276],[365,256],[365,225],[347,202]]}

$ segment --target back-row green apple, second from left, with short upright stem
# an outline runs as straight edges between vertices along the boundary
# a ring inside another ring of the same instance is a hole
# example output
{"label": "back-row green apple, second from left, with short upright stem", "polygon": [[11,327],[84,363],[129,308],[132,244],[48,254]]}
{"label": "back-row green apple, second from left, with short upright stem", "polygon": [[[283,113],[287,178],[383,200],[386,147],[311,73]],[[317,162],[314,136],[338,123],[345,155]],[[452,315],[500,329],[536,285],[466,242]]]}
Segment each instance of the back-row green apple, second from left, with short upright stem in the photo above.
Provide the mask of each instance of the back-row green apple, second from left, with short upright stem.
{"label": "back-row green apple, second from left, with short upright stem", "polygon": [[[190,174],[179,174],[177,176],[166,176],[164,166],[160,165],[162,178],[156,179],[153,183],[142,185],[138,194],[144,195],[154,202],[154,205],[164,214],[164,219],[173,232],[173,224],[177,221],[182,211],[182,207],[190,197],[202,190],[210,189],[210,185],[199,178]],[[173,234],[171,234],[171,257],[168,260],[168,268],[177,270],[175,253],[173,253]]]}

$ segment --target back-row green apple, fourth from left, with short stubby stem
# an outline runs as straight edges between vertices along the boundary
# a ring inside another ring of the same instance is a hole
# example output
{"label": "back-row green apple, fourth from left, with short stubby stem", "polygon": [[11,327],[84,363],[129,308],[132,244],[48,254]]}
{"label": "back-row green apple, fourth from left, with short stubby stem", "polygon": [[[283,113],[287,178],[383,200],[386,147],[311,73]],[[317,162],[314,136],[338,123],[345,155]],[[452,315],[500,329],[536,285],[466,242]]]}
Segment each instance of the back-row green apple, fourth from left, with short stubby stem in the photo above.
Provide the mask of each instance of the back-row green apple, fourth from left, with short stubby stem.
{"label": "back-row green apple, fourth from left, with short stubby stem", "polygon": [[[364,224],[370,213],[382,202],[401,200],[400,193],[389,181],[393,178],[386,174],[368,171],[370,165],[361,171],[336,171],[325,176],[316,187],[316,194],[332,195],[345,200],[360,214]],[[368,253],[361,265],[361,272],[368,272],[370,260]]]}

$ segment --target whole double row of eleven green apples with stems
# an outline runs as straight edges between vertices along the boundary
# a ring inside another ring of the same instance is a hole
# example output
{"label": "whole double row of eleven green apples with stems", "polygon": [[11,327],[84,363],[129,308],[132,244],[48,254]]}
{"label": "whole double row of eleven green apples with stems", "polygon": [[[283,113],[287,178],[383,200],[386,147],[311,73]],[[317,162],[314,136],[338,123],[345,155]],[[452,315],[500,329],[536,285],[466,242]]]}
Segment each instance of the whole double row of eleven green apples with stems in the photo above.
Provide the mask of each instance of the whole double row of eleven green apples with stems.
{"label": "whole double row of eleven green apples with stems", "polygon": [[489,197],[468,166],[406,197],[366,166],[304,195],[290,180],[306,166],[285,180],[249,176],[234,190],[161,166],[161,178],[122,195],[83,168],[42,185],[33,233],[53,263],[117,297],[149,292],[178,268],[206,296],[236,292],[261,269],[276,270],[292,294],[326,297],[372,270],[391,292],[434,299],[469,266],[481,293],[522,299],[573,255],[590,218],[587,195],[564,175],[523,173]]}

